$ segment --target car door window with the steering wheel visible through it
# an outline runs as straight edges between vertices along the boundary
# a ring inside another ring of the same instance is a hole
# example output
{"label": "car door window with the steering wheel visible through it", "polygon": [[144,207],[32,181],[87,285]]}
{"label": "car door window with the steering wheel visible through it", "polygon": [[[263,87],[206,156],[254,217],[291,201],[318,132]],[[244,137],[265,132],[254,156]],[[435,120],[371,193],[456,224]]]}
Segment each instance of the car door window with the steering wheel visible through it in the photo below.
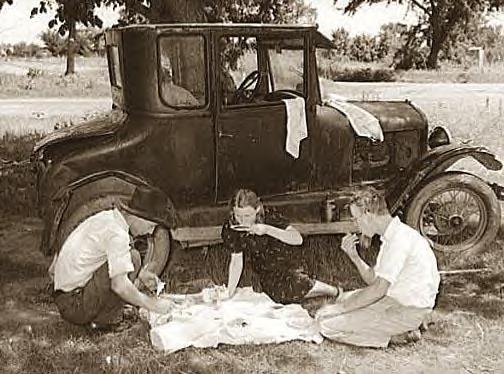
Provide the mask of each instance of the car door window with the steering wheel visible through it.
{"label": "car door window with the steering wheel visible through it", "polygon": [[226,36],[219,46],[224,106],[304,96],[303,38]]}

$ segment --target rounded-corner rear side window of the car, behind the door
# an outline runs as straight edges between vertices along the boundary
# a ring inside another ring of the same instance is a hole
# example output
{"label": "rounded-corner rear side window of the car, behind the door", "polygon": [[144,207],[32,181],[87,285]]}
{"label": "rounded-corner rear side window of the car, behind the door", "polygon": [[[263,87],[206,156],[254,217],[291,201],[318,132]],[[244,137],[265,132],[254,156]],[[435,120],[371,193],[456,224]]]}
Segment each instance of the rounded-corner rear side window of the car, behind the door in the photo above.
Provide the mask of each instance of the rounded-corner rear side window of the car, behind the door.
{"label": "rounded-corner rear side window of the car, behind the door", "polygon": [[175,108],[207,103],[205,39],[202,35],[168,35],[159,39],[159,92]]}

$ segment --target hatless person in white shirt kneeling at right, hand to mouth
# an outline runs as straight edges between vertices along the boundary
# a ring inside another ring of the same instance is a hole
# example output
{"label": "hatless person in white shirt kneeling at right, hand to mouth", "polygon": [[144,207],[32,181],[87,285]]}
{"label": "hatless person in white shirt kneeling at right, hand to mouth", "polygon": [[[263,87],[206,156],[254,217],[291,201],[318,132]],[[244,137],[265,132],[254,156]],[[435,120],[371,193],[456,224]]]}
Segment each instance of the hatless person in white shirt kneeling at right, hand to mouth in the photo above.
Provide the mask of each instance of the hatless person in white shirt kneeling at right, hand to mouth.
{"label": "hatless person in white shirt kneeling at right, hand to mouth", "polygon": [[380,252],[375,267],[370,267],[357,252],[358,237],[347,234],[343,238],[341,248],[368,286],[343,293],[317,312],[322,335],[376,348],[387,347],[391,341],[407,342],[408,337],[419,339],[419,327],[432,311],[439,287],[429,242],[392,217],[385,198],[372,187],[355,193],[350,212],[362,235],[380,235]]}

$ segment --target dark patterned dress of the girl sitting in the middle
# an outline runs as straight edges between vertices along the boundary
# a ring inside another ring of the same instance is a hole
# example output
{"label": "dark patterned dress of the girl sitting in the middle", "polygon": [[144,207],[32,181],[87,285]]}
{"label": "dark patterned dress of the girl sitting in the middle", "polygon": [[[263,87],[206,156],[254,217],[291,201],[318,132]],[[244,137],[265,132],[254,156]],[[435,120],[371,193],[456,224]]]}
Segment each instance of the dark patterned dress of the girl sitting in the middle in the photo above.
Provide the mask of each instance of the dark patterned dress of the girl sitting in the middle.
{"label": "dark patterned dress of the girl sitting in the middle", "polygon": [[[289,223],[274,210],[266,210],[264,223],[285,230]],[[299,302],[315,281],[293,263],[291,252],[298,248],[269,235],[254,235],[222,227],[222,240],[233,253],[243,252],[244,262],[250,261],[258,275],[263,292],[279,303]]]}

